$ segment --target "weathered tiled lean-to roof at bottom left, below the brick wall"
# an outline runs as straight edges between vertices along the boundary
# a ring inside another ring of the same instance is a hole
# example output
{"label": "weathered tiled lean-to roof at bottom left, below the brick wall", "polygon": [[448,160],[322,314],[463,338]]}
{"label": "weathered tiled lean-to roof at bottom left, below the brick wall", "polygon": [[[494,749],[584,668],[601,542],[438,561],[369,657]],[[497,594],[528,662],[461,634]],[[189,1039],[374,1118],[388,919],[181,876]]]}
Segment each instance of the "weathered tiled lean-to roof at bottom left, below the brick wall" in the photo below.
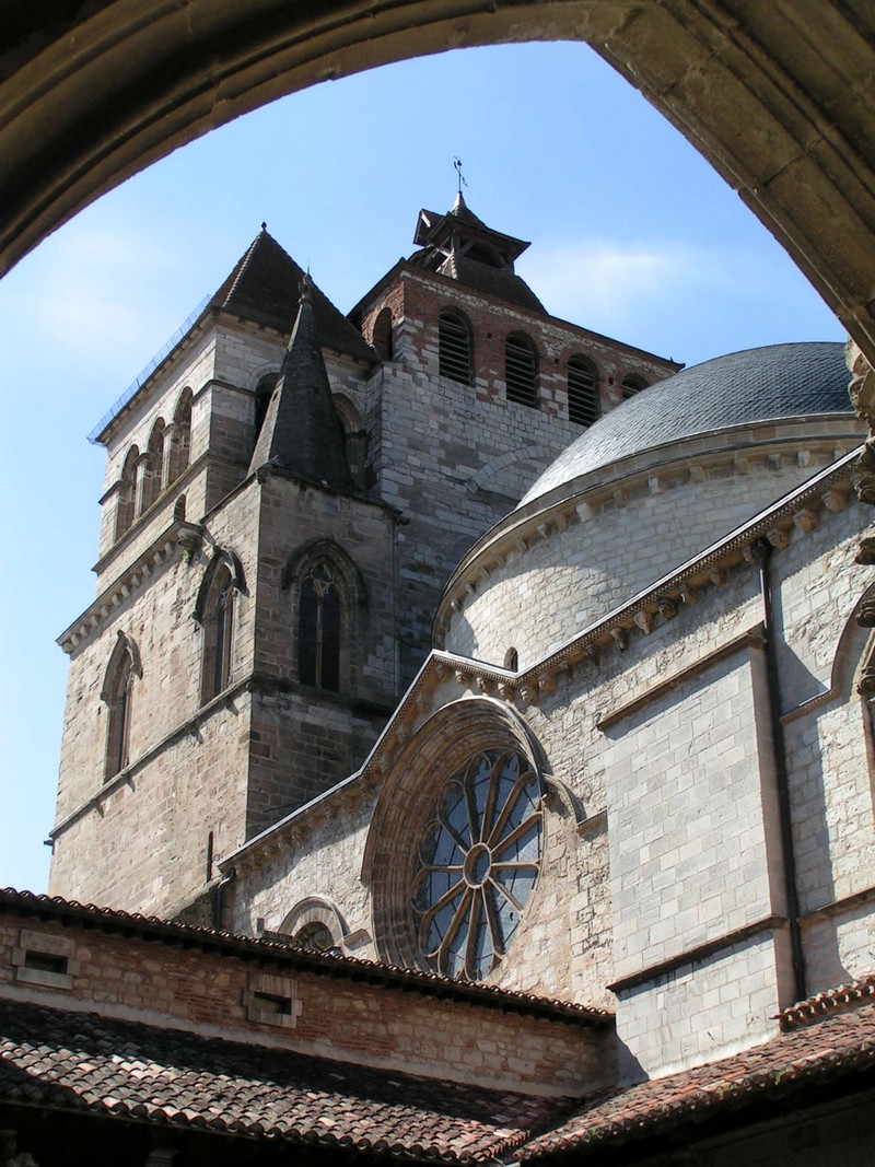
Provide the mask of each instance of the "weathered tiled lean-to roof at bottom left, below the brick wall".
{"label": "weathered tiled lean-to roof at bottom left, below the brick wall", "polygon": [[0,1001],[0,1098],[404,1158],[475,1161],[567,1099],[419,1078],[288,1049]]}

